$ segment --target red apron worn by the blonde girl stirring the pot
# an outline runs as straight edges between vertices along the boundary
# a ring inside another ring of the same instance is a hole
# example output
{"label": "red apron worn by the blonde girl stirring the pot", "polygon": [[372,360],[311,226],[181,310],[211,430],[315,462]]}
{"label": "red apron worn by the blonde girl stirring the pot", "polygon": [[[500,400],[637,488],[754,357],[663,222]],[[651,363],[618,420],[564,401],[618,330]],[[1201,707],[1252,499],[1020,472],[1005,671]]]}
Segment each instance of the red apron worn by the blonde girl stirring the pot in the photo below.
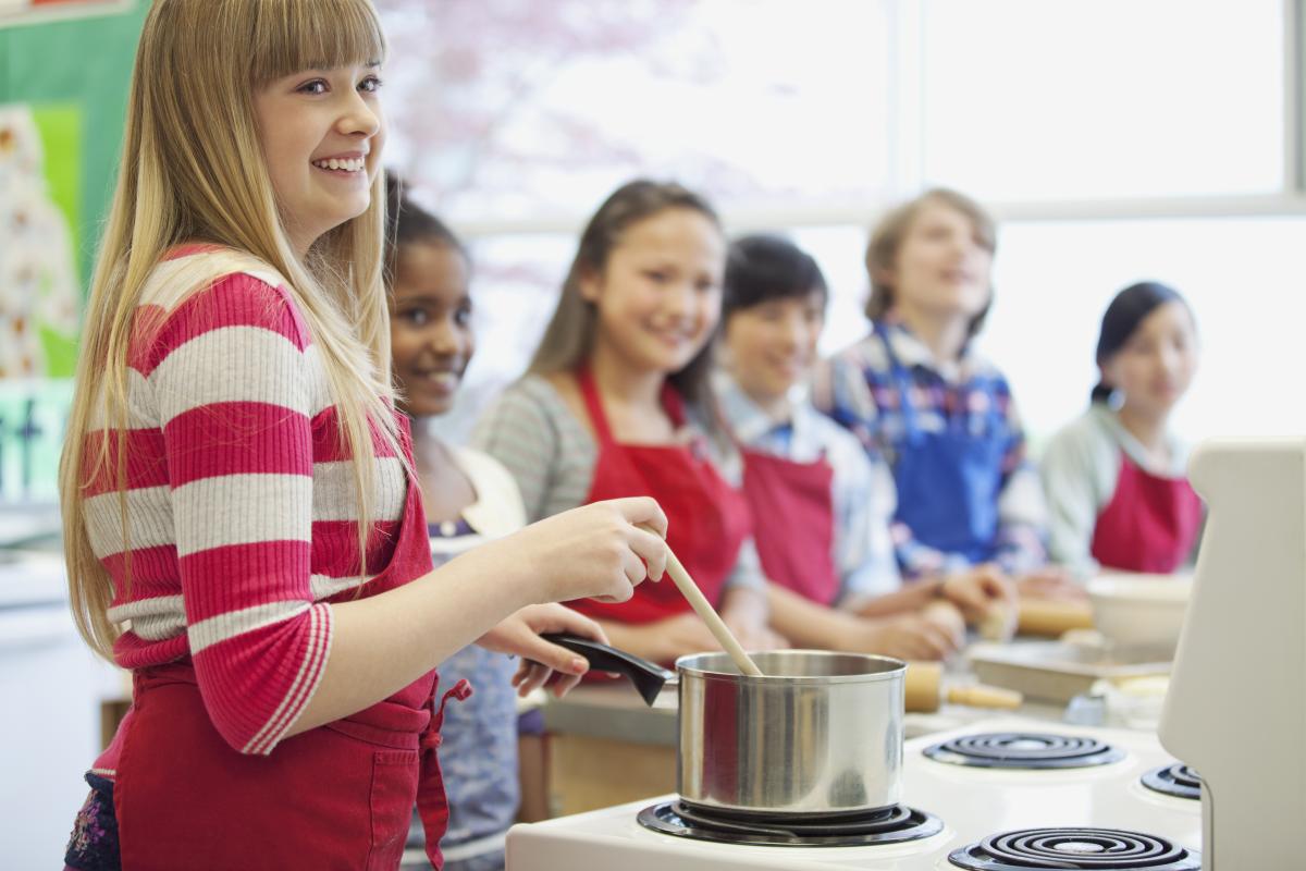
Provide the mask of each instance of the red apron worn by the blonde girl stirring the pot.
{"label": "red apron worn by the blonde girl stirring the pot", "polygon": [[[375,595],[431,568],[418,487],[410,484],[394,554],[364,588]],[[351,598],[346,592],[343,598]],[[448,804],[436,747],[436,674],[351,717],[239,753],[213,727],[191,663],[133,680],[114,785],[124,868],[372,868],[393,871],[417,802],[439,868]],[[423,704],[424,703],[424,704]]]}

